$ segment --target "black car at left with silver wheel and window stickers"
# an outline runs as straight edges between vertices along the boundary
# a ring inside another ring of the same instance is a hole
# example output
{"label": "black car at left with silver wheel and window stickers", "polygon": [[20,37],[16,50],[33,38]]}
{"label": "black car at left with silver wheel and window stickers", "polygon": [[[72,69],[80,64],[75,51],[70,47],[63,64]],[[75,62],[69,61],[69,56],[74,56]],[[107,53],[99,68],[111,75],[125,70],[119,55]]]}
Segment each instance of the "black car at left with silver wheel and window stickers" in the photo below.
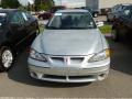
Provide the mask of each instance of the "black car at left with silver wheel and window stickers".
{"label": "black car at left with silver wheel and window stickers", "polygon": [[16,9],[0,10],[0,72],[8,70],[16,52],[38,33],[37,20]]}

